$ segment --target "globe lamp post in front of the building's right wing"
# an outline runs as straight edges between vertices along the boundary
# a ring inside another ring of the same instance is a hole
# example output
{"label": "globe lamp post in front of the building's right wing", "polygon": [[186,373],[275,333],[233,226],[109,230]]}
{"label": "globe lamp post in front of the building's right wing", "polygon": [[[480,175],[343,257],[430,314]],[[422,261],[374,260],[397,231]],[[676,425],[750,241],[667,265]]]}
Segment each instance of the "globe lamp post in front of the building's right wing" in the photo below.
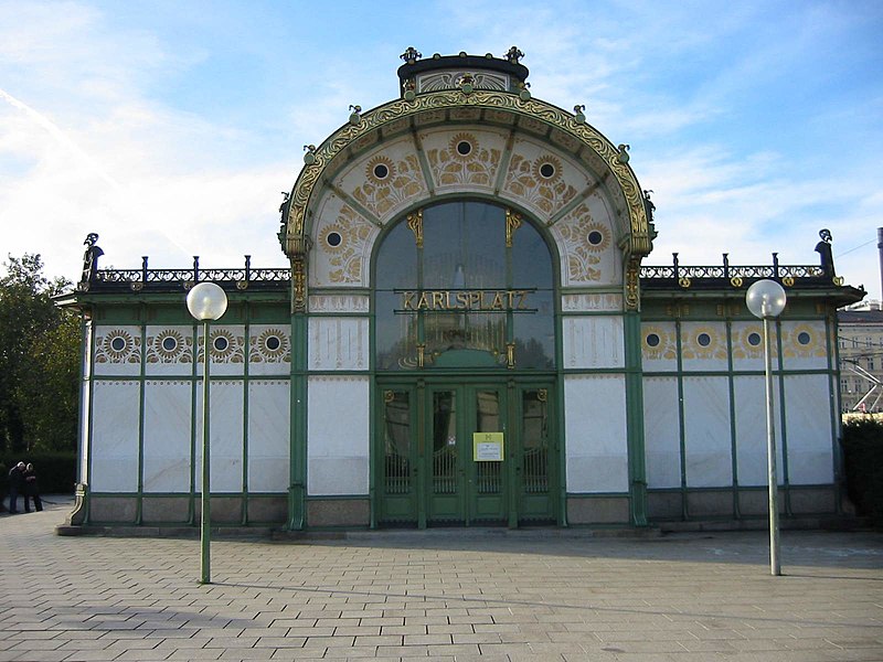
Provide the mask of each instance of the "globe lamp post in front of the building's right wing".
{"label": "globe lamp post in front of the building's right wing", "polygon": [[773,419],[773,359],[769,346],[769,321],[785,309],[785,290],[775,280],[758,280],[745,293],[745,303],[756,318],[764,320],[764,372],[766,374],[766,461],[769,485],[769,573],[781,575],[779,565],[778,479],[776,478],[776,425]]}

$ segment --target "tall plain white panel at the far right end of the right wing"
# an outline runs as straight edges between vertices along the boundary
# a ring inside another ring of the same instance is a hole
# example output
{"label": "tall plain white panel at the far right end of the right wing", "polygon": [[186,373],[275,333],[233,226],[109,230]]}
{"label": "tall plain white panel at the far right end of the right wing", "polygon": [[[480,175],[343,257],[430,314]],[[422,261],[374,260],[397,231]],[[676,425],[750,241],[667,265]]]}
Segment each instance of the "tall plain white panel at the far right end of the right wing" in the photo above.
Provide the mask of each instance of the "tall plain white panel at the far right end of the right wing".
{"label": "tall plain white panel at the far right end of the right wing", "polygon": [[785,426],[789,483],[830,484],[834,440],[828,375],[785,377]]}

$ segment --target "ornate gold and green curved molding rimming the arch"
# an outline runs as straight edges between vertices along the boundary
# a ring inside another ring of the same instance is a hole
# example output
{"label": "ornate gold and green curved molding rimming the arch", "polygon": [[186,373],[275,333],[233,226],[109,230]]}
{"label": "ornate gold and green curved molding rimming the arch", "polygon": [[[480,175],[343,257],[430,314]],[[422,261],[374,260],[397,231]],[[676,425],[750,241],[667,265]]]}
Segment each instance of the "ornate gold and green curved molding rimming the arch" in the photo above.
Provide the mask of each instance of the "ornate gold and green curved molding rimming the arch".
{"label": "ornate gold and green curved molding rimming the arch", "polygon": [[[623,252],[626,306],[638,307],[638,268],[651,249],[652,228],[649,225],[640,185],[627,159],[594,127],[578,122],[574,116],[545,102],[501,92],[445,90],[417,96],[414,100],[397,99],[347,124],[318,148],[309,148],[291,194],[284,207],[280,242],[291,260],[292,308],[306,309],[307,254],[315,237],[317,205],[323,192],[333,189],[334,178],[360,154],[394,140],[413,140],[415,151],[425,158],[418,131],[446,128],[468,131],[493,127],[508,131],[511,140],[523,137],[544,141],[572,160],[603,188],[609,199],[617,227],[616,243]],[[407,138],[411,136],[411,138]],[[440,186],[439,186],[440,188]],[[342,193],[342,192],[341,192]],[[427,182],[424,201],[442,191]],[[494,191],[499,193],[499,190]],[[501,195],[501,199],[504,195]],[[381,226],[383,215],[368,214]],[[544,218],[550,225],[555,218]],[[611,228],[614,229],[614,228]]]}

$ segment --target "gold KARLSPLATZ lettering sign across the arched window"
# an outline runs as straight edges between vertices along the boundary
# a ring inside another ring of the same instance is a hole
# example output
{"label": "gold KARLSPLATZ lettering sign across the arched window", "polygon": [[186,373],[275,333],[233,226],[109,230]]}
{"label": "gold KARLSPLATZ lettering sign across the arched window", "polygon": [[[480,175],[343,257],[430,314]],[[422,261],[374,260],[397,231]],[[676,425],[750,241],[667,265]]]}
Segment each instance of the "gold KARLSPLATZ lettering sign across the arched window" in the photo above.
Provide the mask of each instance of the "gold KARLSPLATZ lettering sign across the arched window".
{"label": "gold KARLSPLATZ lettering sign across the arched window", "polygon": [[532,289],[396,290],[395,312],[536,312],[528,306]]}

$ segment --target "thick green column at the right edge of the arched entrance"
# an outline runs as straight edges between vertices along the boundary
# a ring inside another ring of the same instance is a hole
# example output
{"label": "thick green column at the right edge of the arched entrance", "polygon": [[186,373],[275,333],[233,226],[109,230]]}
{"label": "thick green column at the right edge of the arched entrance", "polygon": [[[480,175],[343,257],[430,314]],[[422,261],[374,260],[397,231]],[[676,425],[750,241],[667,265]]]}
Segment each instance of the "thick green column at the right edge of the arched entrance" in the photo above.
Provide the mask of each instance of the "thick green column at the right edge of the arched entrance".
{"label": "thick green column at the right edge of the arched entrance", "polygon": [[631,523],[647,526],[647,468],[643,448],[643,383],[641,369],[641,318],[637,311],[624,317],[626,344],[626,434],[628,442],[628,492]]}

